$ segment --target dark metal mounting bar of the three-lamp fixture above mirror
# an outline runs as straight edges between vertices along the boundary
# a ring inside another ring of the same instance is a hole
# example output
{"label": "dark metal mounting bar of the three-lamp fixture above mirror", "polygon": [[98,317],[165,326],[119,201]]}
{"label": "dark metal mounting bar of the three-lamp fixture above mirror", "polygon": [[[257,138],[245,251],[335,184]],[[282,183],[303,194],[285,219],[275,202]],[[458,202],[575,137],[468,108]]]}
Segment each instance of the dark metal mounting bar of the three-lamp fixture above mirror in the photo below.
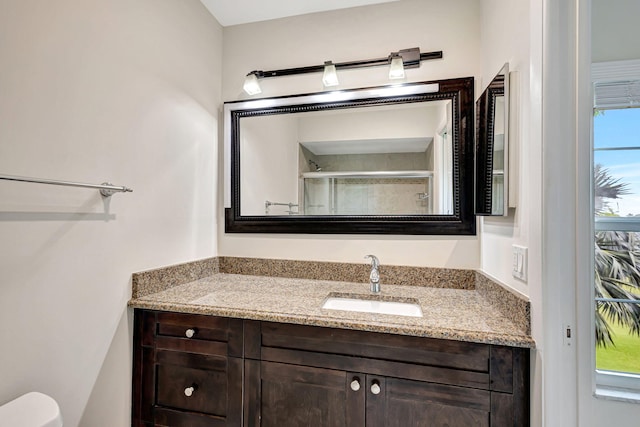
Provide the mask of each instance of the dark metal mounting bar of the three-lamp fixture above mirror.
{"label": "dark metal mounting bar of the three-lamp fixture above mirror", "polygon": [[[414,47],[411,49],[402,49],[398,52],[391,52],[389,56],[384,58],[363,59],[359,61],[348,61],[348,62],[336,62],[333,65],[335,65],[336,70],[348,70],[348,69],[354,69],[354,68],[377,67],[382,65],[389,65],[391,63],[391,56],[393,54],[397,54],[402,57],[402,61],[404,62],[405,68],[418,68],[420,67],[420,62],[422,61],[442,58],[441,50],[434,51],[434,52],[421,53],[420,48]],[[310,65],[308,67],[284,68],[281,70],[252,71],[249,74],[255,74],[256,77],[262,79],[267,77],[292,76],[295,74],[321,73],[323,71],[324,71],[324,64]]]}

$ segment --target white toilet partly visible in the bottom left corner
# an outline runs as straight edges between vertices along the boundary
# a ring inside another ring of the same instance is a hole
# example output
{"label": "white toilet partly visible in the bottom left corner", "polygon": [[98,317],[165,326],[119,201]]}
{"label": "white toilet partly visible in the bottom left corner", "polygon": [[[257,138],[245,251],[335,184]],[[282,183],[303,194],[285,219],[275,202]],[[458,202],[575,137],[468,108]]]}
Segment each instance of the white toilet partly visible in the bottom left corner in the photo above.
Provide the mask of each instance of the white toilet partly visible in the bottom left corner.
{"label": "white toilet partly visible in the bottom left corner", "polygon": [[0,406],[0,427],[62,427],[58,403],[32,391]]}

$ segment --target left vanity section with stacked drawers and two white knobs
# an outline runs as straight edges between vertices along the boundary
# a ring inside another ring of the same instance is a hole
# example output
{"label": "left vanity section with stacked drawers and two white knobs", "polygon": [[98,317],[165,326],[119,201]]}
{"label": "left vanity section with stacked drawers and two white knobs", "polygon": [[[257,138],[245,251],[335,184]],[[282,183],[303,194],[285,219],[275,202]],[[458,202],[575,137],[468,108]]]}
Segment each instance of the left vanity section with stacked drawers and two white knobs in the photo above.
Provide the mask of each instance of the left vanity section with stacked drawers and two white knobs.
{"label": "left vanity section with stacked drawers and two white knobs", "polygon": [[242,320],[135,310],[132,426],[240,426],[242,364]]}

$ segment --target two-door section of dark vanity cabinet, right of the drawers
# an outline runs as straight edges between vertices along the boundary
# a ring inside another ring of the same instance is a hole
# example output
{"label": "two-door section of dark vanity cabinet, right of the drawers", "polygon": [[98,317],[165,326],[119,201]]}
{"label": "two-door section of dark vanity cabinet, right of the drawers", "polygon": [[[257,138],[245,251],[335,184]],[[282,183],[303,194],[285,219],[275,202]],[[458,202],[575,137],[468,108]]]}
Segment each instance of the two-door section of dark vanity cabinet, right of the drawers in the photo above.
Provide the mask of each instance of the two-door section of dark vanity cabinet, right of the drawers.
{"label": "two-door section of dark vanity cabinet, right of the drawers", "polygon": [[528,349],[265,322],[259,327],[259,360],[245,361],[248,426],[529,424]]}

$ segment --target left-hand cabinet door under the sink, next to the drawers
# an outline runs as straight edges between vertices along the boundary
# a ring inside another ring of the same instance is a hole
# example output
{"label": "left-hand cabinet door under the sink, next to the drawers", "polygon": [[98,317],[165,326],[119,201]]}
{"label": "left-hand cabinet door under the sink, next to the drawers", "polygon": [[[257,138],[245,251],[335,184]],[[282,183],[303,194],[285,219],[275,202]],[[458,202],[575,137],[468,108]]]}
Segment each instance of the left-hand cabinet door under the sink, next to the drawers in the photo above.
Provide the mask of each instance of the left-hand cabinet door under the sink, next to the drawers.
{"label": "left-hand cabinet door under the sink, next to the drawers", "polygon": [[259,402],[247,415],[249,426],[364,425],[362,375],[275,362],[247,363],[252,365],[247,373],[259,379],[249,380],[259,387],[248,391]]}

